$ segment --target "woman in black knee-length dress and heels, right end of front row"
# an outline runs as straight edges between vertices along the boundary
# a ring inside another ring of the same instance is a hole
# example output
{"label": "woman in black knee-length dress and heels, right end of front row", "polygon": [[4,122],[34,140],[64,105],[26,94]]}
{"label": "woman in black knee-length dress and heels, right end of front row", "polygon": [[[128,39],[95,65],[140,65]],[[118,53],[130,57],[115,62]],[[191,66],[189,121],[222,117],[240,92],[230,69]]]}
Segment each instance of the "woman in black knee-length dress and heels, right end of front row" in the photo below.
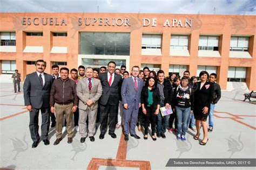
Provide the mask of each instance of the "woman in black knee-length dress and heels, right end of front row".
{"label": "woman in black knee-length dress and heels, right end of front row", "polygon": [[206,145],[208,141],[206,120],[213,99],[213,85],[207,81],[209,74],[206,71],[201,71],[199,77],[201,81],[197,82],[197,89],[194,92],[194,118],[196,119],[197,127],[197,134],[194,136],[194,139],[199,139],[201,124],[203,126],[204,138],[200,142],[200,145]]}

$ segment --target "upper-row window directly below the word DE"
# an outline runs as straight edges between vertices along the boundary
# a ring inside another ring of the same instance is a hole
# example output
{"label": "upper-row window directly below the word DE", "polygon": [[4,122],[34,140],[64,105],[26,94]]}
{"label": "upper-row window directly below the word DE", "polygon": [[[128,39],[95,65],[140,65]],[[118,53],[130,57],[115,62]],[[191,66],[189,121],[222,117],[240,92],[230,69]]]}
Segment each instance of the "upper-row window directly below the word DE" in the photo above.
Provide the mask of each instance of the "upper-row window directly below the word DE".
{"label": "upper-row window directly below the word DE", "polygon": [[143,34],[142,49],[161,49],[161,35]]}

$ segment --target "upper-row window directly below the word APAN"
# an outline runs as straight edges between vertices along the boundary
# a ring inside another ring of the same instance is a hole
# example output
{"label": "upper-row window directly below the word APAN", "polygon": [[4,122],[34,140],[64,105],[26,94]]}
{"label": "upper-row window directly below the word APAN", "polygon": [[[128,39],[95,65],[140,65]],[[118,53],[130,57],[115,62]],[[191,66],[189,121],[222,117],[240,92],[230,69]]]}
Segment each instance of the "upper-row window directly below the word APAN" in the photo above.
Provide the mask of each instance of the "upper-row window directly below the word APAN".
{"label": "upper-row window directly below the word APAN", "polygon": [[188,49],[188,36],[171,35],[171,49]]}

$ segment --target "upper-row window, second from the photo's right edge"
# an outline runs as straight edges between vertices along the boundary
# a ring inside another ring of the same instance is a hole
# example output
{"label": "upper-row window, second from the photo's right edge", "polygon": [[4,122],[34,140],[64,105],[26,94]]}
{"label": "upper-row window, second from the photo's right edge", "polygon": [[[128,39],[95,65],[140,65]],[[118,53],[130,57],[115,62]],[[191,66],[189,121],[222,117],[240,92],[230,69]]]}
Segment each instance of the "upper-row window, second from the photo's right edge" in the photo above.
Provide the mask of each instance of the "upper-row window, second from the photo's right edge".
{"label": "upper-row window, second from the photo's right edge", "polygon": [[219,51],[218,36],[200,36],[198,50]]}

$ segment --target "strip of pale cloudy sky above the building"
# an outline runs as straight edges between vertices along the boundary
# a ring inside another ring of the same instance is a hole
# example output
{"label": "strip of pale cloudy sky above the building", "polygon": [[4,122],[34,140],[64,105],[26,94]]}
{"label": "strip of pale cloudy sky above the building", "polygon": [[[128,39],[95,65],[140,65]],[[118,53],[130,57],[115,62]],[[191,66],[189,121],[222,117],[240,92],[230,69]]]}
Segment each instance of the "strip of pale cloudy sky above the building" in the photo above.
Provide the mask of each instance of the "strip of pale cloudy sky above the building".
{"label": "strip of pale cloudy sky above the building", "polygon": [[256,0],[0,0],[0,12],[255,15]]}

